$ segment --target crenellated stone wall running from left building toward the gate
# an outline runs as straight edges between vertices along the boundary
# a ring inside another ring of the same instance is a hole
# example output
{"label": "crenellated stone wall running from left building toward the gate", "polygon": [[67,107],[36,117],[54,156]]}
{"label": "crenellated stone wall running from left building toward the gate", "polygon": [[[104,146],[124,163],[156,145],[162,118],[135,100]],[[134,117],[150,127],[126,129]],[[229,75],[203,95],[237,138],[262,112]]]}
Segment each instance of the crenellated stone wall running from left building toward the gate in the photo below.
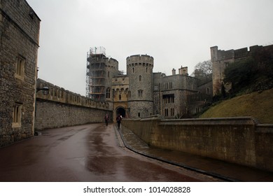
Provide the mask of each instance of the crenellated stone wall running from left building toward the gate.
{"label": "crenellated stone wall running from left building toward the gate", "polygon": [[37,80],[37,87],[49,87],[49,94],[36,94],[35,130],[103,123],[106,113],[113,120],[111,106],[104,102],[94,102],[80,94]]}

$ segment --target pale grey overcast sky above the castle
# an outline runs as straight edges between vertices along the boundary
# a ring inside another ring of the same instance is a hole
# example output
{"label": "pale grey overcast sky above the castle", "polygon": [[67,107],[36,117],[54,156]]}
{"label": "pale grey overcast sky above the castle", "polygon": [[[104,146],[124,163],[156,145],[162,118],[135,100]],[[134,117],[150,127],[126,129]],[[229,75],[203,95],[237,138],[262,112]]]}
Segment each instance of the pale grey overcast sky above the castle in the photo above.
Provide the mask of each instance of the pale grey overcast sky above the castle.
{"label": "pale grey overcast sky above the castle", "polygon": [[147,54],[172,74],[230,50],[273,44],[272,0],[27,0],[41,19],[38,78],[85,95],[86,55],[103,46],[126,71]]}

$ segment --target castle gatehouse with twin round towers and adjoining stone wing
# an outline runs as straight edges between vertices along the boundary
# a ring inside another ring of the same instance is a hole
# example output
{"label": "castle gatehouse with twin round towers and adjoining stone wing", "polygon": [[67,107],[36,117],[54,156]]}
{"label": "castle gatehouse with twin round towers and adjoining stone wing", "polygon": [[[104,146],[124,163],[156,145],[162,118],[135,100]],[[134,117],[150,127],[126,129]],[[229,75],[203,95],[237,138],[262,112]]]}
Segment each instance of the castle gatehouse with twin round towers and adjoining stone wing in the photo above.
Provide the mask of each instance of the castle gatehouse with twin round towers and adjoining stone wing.
{"label": "castle gatehouse with twin round towers and adjoining stone wing", "polygon": [[[87,97],[113,106],[114,120],[118,113],[125,118],[158,114],[186,118],[211,101],[212,82],[198,83],[188,76],[188,67],[181,66],[177,74],[173,69],[172,76],[166,76],[153,73],[153,57],[132,55],[126,59],[124,75],[118,71],[116,59],[106,57],[105,50],[95,50],[90,49],[87,55]],[[114,66],[110,62],[115,62]]]}

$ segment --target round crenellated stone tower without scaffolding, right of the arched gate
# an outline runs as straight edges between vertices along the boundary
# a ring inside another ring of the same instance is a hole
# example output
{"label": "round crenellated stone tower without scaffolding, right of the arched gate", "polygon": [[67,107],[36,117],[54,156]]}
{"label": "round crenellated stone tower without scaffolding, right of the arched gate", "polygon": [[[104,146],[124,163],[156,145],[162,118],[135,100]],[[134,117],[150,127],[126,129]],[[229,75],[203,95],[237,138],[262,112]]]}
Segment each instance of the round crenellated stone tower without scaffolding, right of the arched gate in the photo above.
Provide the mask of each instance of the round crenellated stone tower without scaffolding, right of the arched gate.
{"label": "round crenellated stone tower without scaffolding, right of the arched gate", "polygon": [[132,55],[127,57],[129,78],[129,117],[138,118],[153,115],[153,57]]}

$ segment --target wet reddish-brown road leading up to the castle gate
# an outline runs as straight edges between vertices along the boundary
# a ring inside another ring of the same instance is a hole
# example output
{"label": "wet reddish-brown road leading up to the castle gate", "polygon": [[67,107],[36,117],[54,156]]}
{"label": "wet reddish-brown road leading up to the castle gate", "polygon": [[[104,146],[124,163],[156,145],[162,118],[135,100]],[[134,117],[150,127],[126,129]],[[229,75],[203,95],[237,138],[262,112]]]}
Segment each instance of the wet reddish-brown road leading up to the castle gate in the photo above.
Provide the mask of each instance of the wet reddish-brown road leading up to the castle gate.
{"label": "wet reddish-brown road leading up to the castle gate", "polygon": [[211,181],[127,150],[113,125],[45,130],[0,148],[0,181]]}

